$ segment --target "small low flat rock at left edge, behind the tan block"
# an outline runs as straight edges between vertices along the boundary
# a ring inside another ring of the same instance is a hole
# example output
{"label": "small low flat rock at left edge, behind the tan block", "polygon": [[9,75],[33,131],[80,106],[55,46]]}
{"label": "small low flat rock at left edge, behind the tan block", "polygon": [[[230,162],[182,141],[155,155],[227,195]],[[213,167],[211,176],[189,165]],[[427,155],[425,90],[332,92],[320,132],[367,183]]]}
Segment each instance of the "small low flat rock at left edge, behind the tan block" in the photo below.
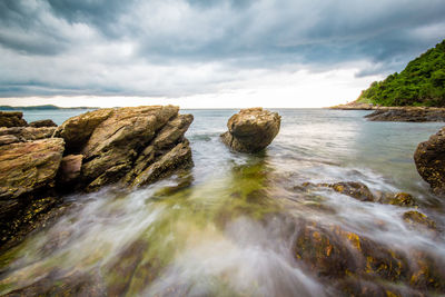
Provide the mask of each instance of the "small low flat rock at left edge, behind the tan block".
{"label": "small low flat rock at left edge, behind the tan block", "polygon": [[0,146],[10,145],[14,142],[24,142],[29,140],[38,140],[50,138],[56,128],[55,127],[12,127],[0,128]]}

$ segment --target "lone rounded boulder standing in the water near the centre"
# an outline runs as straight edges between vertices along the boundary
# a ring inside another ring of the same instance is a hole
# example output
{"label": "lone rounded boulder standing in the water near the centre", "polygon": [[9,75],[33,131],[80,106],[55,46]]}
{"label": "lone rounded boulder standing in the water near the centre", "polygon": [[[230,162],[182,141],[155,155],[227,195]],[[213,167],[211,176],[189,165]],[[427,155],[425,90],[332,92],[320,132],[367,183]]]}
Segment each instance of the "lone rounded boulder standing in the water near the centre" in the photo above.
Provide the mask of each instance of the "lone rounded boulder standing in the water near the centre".
{"label": "lone rounded boulder standing in the water near the centre", "polygon": [[263,108],[241,109],[230,117],[221,140],[241,152],[256,152],[266,148],[279,131],[280,116]]}

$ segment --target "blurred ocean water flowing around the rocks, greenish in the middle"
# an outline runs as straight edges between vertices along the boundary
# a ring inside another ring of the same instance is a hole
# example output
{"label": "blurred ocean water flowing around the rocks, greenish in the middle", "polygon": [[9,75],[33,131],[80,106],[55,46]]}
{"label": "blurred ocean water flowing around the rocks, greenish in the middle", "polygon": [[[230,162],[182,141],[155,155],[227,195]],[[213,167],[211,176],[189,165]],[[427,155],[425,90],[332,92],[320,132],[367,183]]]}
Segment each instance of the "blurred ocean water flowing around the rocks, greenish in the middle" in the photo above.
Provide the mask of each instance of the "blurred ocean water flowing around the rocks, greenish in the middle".
{"label": "blurred ocean water flowing around the rocks, greenish in the middle", "polygon": [[[418,142],[443,123],[370,122],[363,118],[368,111],[276,111],[278,136],[247,155],[219,140],[237,110],[182,110],[195,116],[186,133],[194,168],[140,189],[66,197],[68,214],[0,256],[0,295],[36,284],[63,290],[76,279],[83,290],[71,293],[79,296],[336,296],[293,256],[296,230],[283,217],[445,257],[442,234],[404,224],[412,208],[300,188],[360,181],[373,192],[409,192],[443,228],[444,204],[413,161]],[[39,112],[24,118],[60,123],[73,116]]]}

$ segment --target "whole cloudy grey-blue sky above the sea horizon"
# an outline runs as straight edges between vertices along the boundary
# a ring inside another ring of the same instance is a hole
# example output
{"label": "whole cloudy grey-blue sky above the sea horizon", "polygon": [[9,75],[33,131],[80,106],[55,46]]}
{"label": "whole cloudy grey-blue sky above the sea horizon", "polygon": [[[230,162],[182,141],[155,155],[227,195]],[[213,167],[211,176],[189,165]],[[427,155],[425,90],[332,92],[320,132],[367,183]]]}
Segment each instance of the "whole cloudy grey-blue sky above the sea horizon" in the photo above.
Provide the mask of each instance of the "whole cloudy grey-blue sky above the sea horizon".
{"label": "whole cloudy grey-blue sky above the sea horizon", "polygon": [[1,0],[0,105],[326,107],[445,38],[444,0]]}

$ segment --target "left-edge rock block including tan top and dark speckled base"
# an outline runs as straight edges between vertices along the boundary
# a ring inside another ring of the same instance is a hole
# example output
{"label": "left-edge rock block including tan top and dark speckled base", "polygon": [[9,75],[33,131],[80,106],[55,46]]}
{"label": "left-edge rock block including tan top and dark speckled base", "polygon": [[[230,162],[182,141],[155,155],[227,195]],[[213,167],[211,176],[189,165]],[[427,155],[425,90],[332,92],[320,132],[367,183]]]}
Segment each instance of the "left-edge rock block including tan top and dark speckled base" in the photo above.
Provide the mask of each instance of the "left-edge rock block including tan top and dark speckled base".
{"label": "left-edge rock block including tan top and dark speckled base", "polygon": [[63,139],[48,138],[0,147],[0,245],[58,201],[52,196]]}

